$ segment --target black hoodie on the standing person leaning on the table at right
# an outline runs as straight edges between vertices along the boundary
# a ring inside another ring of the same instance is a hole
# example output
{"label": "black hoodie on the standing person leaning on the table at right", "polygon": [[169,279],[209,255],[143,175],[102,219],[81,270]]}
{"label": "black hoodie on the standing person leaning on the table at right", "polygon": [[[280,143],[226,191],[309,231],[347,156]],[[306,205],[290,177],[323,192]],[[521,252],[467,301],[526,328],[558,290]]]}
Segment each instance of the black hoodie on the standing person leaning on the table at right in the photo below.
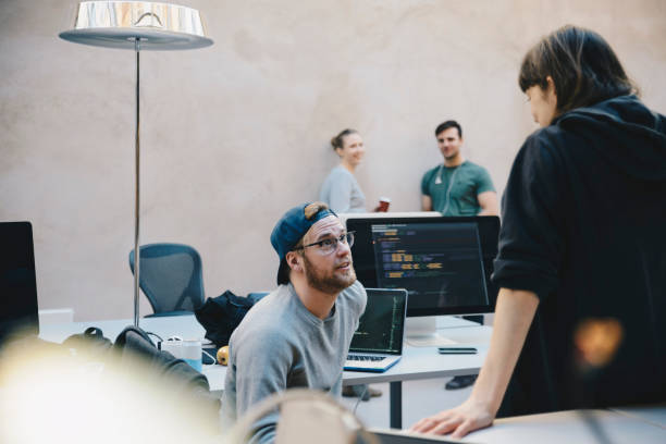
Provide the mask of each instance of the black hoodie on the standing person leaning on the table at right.
{"label": "black hoodie on the standing person leaning on the table at right", "polygon": [[[540,305],[498,416],[666,400],[666,119],[633,96],[558,116],[502,213],[493,281]],[[592,324],[606,362],[575,344]]]}

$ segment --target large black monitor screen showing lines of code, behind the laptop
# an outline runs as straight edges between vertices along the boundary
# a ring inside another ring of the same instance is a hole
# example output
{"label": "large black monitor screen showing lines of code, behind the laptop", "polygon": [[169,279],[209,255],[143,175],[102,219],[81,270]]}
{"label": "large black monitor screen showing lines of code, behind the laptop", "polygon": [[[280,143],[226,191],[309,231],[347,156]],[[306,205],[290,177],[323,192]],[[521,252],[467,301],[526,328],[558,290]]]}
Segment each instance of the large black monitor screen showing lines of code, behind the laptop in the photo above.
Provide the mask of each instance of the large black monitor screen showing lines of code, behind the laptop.
{"label": "large black monitor screen showing lines of code, behind the laptop", "polygon": [[359,281],[406,288],[407,316],[492,312],[491,284],[497,254],[496,217],[349,219]]}

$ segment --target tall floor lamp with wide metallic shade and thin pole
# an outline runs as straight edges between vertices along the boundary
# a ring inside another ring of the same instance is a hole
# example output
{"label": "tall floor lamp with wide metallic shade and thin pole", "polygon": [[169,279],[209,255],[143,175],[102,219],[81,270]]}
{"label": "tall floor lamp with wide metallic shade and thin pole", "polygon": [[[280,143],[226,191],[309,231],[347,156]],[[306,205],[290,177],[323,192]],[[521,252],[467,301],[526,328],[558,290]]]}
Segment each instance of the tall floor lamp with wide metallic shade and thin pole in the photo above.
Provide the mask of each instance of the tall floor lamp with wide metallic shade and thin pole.
{"label": "tall floor lamp with wide metallic shade and thin pole", "polygon": [[146,1],[84,1],[72,29],[60,37],[75,44],[131,49],[136,53],[135,206],[134,206],[134,325],[139,319],[139,53],[211,46],[199,11]]}

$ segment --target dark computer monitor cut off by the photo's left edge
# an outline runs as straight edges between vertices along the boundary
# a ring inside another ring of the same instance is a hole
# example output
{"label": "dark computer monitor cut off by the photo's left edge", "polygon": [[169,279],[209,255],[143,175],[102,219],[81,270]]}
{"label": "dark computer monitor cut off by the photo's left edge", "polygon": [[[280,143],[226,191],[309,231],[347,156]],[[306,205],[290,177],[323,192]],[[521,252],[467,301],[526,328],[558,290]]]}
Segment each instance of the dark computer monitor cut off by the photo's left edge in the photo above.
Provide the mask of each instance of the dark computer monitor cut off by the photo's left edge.
{"label": "dark computer monitor cut off by the photo's left edge", "polygon": [[38,334],[37,283],[29,222],[0,222],[0,345],[13,334]]}

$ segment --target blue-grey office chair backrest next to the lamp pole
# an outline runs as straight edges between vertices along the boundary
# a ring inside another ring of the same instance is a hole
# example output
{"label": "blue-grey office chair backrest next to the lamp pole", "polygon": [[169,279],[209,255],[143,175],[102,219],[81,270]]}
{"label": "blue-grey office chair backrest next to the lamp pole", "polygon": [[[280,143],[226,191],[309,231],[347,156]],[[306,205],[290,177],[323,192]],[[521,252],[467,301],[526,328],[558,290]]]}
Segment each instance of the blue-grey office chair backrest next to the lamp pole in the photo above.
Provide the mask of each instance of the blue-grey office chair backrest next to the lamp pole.
{"label": "blue-grey office chair backrest next to the lamp pole", "polygon": [[[192,314],[203,305],[201,258],[197,250],[181,244],[139,248],[139,287],[155,311],[146,318]],[[130,251],[130,269],[134,273],[134,250]]]}

